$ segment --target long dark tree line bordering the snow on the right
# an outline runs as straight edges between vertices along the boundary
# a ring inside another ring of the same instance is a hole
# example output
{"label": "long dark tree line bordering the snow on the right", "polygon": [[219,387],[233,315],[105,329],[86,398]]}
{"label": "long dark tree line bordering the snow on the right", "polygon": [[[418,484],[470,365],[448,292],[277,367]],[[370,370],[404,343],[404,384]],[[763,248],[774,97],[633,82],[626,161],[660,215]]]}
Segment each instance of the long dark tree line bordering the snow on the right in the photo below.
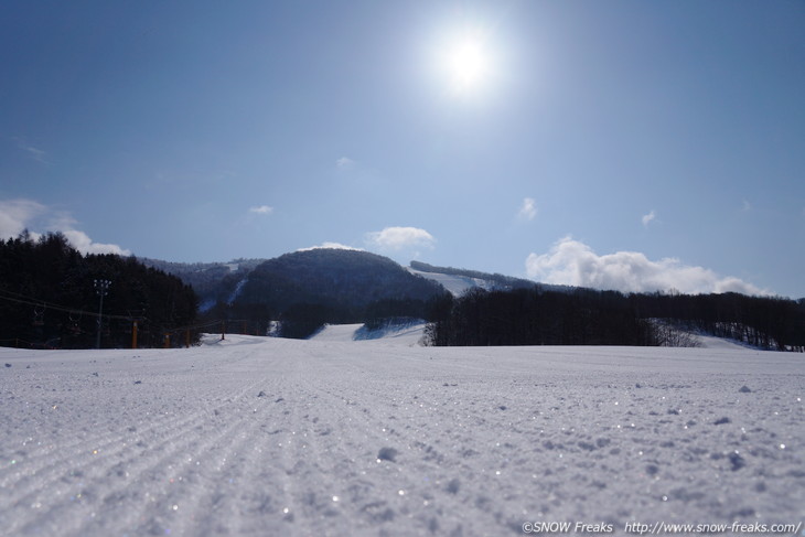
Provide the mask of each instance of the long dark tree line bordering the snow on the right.
{"label": "long dark tree line bordering the snow on the right", "polygon": [[427,336],[438,346],[693,344],[681,326],[762,348],[805,350],[805,300],[737,293],[471,289],[433,300],[428,318]]}

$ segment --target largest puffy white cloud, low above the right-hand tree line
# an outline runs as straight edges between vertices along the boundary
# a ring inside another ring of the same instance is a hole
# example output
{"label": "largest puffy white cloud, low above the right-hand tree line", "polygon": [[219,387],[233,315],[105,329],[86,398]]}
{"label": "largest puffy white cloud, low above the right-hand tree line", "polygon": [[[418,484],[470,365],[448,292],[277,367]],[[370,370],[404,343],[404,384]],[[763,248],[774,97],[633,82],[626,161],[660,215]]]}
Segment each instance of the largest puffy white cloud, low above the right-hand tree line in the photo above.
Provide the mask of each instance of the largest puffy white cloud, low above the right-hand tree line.
{"label": "largest puffy white cloud, low above the right-hand tree line", "polygon": [[740,292],[770,294],[734,277],[721,277],[704,267],[683,265],[678,259],[652,261],[637,251],[616,251],[599,256],[583,243],[565,237],[547,254],[526,259],[529,278],[545,283],[612,289],[623,292],[652,292],[676,289],[684,293]]}

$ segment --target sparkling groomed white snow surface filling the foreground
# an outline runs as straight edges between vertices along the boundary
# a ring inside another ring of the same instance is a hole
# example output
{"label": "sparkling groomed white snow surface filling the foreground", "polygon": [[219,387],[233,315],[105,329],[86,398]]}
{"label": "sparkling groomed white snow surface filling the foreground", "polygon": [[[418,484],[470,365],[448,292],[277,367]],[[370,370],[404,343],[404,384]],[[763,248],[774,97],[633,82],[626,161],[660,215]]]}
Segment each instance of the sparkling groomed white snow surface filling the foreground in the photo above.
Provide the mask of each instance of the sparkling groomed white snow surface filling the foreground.
{"label": "sparkling groomed white snow surface filling the foreground", "polygon": [[805,518],[802,354],[218,339],[0,350],[0,534]]}

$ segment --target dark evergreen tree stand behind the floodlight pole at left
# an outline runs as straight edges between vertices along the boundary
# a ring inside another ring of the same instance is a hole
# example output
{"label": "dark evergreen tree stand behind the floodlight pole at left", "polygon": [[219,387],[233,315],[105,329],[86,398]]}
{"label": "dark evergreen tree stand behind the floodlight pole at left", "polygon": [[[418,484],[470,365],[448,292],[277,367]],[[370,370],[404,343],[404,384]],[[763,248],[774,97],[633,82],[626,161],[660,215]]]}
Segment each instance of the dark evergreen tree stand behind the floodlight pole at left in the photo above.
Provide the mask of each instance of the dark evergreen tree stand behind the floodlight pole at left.
{"label": "dark evergreen tree stand behind the floodlight pole at left", "polygon": [[[142,347],[164,346],[169,331],[196,322],[196,294],[179,278],[133,257],[82,255],[60,233],[34,239],[24,232],[0,240],[0,345],[94,347],[100,300],[94,282],[101,279],[111,282],[103,347],[130,347],[135,321]],[[186,337],[169,343],[185,344]]]}

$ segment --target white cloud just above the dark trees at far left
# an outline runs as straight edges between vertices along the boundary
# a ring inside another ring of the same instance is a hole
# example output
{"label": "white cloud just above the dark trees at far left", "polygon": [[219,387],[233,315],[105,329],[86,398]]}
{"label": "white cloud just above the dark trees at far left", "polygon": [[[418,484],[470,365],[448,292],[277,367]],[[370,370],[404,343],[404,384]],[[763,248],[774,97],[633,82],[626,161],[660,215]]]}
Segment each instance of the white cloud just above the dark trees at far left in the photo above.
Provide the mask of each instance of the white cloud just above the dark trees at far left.
{"label": "white cloud just above the dark trees at far left", "polygon": [[44,232],[61,232],[69,244],[82,254],[117,254],[130,256],[131,251],[118,245],[94,243],[89,236],[75,229],[76,222],[67,213],[53,210],[33,200],[0,200],[0,238],[15,238],[24,229],[31,232],[32,238]]}

